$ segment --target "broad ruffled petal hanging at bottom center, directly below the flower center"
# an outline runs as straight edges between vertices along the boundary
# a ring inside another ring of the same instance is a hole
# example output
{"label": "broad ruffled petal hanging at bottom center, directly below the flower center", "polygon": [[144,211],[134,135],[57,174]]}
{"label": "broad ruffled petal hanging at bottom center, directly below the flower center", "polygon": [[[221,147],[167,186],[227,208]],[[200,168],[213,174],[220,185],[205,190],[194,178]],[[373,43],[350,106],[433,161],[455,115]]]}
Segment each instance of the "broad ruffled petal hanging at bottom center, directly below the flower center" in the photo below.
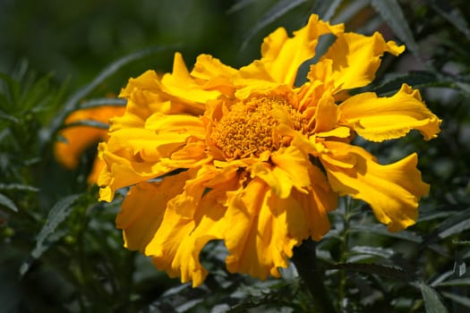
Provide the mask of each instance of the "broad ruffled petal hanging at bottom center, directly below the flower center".
{"label": "broad ruffled petal hanging at bottom center, directly below the flower center", "polygon": [[228,271],[263,280],[268,275],[279,277],[278,267],[288,266],[292,248],[302,241],[294,238],[290,230],[297,236],[308,236],[307,221],[298,201],[279,199],[259,178],[232,194],[226,221],[230,225],[224,236],[229,252]]}

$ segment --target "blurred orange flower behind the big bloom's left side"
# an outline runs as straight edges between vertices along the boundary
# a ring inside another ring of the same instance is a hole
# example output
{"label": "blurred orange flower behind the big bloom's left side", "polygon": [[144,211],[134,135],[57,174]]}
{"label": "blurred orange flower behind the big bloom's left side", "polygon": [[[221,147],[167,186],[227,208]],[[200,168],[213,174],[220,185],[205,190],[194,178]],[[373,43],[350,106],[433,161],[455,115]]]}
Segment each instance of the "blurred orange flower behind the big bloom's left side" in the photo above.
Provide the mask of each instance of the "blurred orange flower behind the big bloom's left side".
{"label": "blurred orange flower behind the big bloom's left side", "polygon": [[[97,106],[77,110],[67,116],[64,125],[78,123],[80,121],[96,121],[99,123],[109,123],[109,119],[114,116],[124,114],[124,106]],[[73,125],[60,131],[62,141],[56,141],[54,153],[57,161],[65,168],[73,170],[80,162],[81,154],[98,141],[107,140],[107,130],[87,125]],[[93,162],[88,182],[98,182],[98,175],[103,169],[104,162],[98,158]]]}

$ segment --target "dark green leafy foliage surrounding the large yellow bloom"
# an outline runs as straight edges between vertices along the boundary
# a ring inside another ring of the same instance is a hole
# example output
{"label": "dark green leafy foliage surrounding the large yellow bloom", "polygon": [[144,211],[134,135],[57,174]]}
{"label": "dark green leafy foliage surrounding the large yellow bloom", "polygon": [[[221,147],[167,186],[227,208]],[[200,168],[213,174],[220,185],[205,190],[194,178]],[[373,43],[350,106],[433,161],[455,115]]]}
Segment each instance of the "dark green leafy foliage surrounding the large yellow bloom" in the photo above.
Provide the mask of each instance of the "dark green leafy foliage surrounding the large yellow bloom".
{"label": "dark green leafy foliage surrounding the large yellow bloom", "polygon": [[[82,5],[82,10],[91,10]],[[285,24],[299,27],[310,13],[345,22],[348,30],[380,30],[406,44],[409,53],[386,59],[367,89],[388,95],[402,82],[421,89],[427,106],[443,120],[442,132],[429,142],[416,140],[412,133],[406,140],[382,143],[380,149],[373,143],[366,148],[387,162],[417,151],[423,179],[432,185],[430,196],[422,201],[418,223],[400,233],[377,225],[363,202],[345,199],[330,216],[333,229],[317,244],[312,262],[338,311],[463,312],[470,308],[470,16],[466,2],[240,0],[218,8],[204,5],[204,16],[220,14],[220,27],[228,29],[224,24],[228,19],[244,25],[227,30],[233,32],[235,43],[226,33],[211,33],[210,40],[204,40],[215,43],[204,52],[217,50],[218,40],[229,45],[225,57],[234,66],[253,58],[250,47],[259,45],[252,43],[268,29]],[[151,64],[168,52],[187,48],[171,44],[149,48],[142,43],[139,52],[96,71],[96,78],[88,78],[81,89],[71,86],[70,80],[59,82],[53,74],[34,72],[27,61],[15,60],[14,69],[0,73],[0,303],[6,312],[311,311],[311,295],[294,266],[283,271],[281,279],[265,282],[229,274],[225,249],[217,241],[203,251],[203,263],[212,273],[203,286],[192,289],[169,279],[149,259],[123,248],[114,224],[120,200],[98,203],[97,187],[87,185],[96,148],[83,154],[81,165],[73,171],[56,163],[53,145],[60,140],[58,131],[67,114],[82,106],[107,104],[104,97],[116,91],[116,77],[129,75],[135,64]],[[219,51],[224,55],[224,50]],[[242,56],[236,59],[233,51]],[[102,55],[103,60],[109,63],[107,55]],[[166,65],[153,66],[165,70]],[[120,85],[124,84],[122,80]]]}

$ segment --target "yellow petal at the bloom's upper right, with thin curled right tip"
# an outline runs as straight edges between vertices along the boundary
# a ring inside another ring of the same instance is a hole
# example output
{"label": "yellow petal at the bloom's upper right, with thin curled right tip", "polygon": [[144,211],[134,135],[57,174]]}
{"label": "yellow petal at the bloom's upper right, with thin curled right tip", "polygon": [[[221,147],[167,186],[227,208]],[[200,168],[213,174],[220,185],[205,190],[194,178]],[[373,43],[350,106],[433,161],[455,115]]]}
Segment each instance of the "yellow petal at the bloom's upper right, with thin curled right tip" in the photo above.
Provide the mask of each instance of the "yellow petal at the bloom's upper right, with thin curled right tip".
{"label": "yellow petal at the bloom's upper right, with thin curled right tip", "polygon": [[338,34],[320,62],[332,60],[331,75],[336,91],[354,89],[368,85],[375,78],[381,55],[385,52],[399,55],[404,50],[404,46],[397,47],[393,41],[386,42],[379,32],[371,37],[346,32]]}

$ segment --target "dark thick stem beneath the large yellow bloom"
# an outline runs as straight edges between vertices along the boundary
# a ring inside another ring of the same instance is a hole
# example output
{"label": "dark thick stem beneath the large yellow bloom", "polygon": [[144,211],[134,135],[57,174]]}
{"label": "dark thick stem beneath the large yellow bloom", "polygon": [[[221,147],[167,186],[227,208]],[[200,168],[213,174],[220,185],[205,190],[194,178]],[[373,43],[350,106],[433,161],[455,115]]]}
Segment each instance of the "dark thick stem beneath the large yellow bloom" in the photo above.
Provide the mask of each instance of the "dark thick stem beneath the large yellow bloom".
{"label": "dark thick stem beneath the large yellow bloom", "polygon": [[332,313],[337,312],[329,300],[328,292],[324,285],[324,279],[320,268],[316,262],[315,241],[303,241],[300,247],[294,248],[292,261],[297,268],[297,272],[302,277],[303,283],[312,294],[314,312]]}

